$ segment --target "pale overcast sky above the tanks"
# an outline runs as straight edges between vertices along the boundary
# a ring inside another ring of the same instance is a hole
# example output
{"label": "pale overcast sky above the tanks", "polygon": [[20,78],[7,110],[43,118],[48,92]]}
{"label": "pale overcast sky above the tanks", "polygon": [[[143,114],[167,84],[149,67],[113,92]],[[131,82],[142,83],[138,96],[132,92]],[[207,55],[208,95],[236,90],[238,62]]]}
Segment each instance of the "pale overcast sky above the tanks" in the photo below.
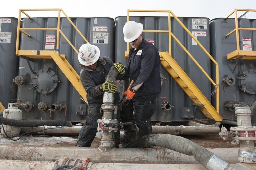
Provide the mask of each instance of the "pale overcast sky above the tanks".
{"label": "pale overcast sky above the tanks", "polygon": [[[256,0],[8,0],[1,4],[0,17],[18,18],[19,9],[61,8],[68,17],[110,17],[126,16],[127,9],[171,10],[179,17],[223,18],[232,10],[256,9]],[[57,13],[27,12],[31,17],[57,17]],[[238,16],[243,12],[238,13]],[[147,13],[130,15],[145,16]],[[151,13],[152,15],[152,13]],[[154,16],[157,16],[154,13]],[[160,14],[158,16],[167,16]],[[25,17],[25,16],[22,16]],[[234,15],[231,16],[234,18]],[[244,18],[244,17],[243,17]],[[246,18],[256,18],[256,12],[249,12]]]}

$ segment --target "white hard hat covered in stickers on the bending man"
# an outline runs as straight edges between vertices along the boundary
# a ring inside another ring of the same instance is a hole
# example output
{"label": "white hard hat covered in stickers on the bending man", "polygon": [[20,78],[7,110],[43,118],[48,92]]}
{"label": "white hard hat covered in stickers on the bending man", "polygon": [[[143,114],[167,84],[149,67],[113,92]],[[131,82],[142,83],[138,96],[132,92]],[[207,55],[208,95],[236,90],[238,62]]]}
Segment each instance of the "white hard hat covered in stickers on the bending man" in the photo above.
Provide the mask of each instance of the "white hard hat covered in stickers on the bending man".
{"label": "white hard hat covered in stickers on the bending man", "polygon": [[91,44],[83,44],[79,48],[78,61],[83,65],[92,65],[98,61],[100,49]]}

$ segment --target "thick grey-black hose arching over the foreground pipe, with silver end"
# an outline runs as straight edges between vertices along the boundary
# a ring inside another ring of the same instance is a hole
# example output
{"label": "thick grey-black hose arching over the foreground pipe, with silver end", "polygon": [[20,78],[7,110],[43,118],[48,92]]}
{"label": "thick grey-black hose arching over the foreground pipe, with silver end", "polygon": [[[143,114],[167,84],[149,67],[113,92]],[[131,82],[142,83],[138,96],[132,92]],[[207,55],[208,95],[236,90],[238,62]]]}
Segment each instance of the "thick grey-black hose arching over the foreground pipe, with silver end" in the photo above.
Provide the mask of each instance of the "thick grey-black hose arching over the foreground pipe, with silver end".
{"label": "thick grey-black hose arching over the foreground pipe, with silver end", "polygon": [[[186,155],[193,155],[194,158],[206,166],[208,169],[225,169],[227,162],[220,159],[214,153],[204,147],[180,136],[169,134],[150,134],[133,140],[131,143],[124,145],[124,148],[150,148],[152,146],[161,146],[180,152]],[[215,162],[212,161],[213,159]],[[216,159],[217,158],[217,159]],[[209,161],[211,159],[211,161]],[[214,163],[213,163],[214,162]],[[214,165],[216,164],[216,165]]]}

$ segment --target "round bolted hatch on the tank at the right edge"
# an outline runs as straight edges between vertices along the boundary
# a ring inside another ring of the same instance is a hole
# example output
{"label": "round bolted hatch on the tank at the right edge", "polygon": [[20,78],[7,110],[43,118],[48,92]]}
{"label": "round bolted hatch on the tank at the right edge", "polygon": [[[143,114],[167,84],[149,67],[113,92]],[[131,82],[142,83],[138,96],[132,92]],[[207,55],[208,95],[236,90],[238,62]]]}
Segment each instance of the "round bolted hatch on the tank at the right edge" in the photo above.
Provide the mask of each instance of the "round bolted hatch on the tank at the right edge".
{"label": "round bolted hatch on the tank at the right edge", "polygon": [[243,71],[239,75],[240,90],[249,94],[256,94],[256,69]]}

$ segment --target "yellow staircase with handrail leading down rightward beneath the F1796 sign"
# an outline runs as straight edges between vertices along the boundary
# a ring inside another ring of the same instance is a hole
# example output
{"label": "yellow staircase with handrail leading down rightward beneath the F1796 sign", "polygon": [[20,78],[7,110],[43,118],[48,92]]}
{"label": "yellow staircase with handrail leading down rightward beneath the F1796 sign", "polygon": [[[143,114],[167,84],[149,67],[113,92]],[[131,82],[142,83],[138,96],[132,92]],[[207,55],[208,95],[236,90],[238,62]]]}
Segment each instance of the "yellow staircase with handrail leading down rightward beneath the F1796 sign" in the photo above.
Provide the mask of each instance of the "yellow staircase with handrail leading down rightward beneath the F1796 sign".
{"label": "yellow staircase with handrail leading down rightward beneath the F1796 sign", "polygon": [[[177,18],[172,11],[159,11],[159,10],[128,10],[127,21],[129,21],[129,12],[167,12],[168,13],[168,30],[143,30],[143,32],[150,33],[168,33],[169,40],[169,53],[159,52],[161,64],[172,76],[172,78],[180,85],[183,91],[189,96],[189,98],[194,102],[194,105],[198,106],[205,117],[209,119],[214,119],[215,121],[222,121],[222,117],[219,114],[219,89],[216,89],[216,109],[212,106],[204,94],[197,88],[193,81],[188,77],[188,75],[182,70],[179,64],[172,58],[171,53],[171,38],[173,38],[180,47],[187,53],[187,55],[196,63],[204,75],[209,79],[209,81],[215,87],[219,85],[219,66],[218,63],[212,58],[208,51],[202,46],[202,44],[192,35],[188,28]],[[198,44],[200,48],[205,52],[205,54],[212,60],[216,66],[216,83],[212,78],[205,72],[205,70],[199,65],[195,58],[188,52],[188,50],[182,45],[182,43],[175,37],[171,32],[171,14],[174,19],[184,28],[184,30],[191,36],[194,41]],[[127,43],[127,51],[125,51],[125,57],[127,58],[129,54],[129,43]]]}

